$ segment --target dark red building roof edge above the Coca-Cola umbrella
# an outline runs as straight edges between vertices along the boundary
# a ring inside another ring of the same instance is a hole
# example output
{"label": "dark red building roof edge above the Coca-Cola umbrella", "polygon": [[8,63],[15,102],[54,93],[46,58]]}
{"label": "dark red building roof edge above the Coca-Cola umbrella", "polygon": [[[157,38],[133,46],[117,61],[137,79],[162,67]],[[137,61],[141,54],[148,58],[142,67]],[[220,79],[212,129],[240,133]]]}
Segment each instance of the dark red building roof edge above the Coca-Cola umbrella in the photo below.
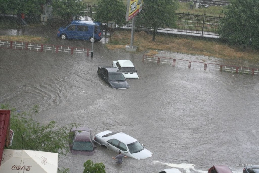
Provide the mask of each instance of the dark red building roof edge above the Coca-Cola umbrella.
{"label": "dark red building roof edge above the Coca-Cola umbrella", "polygon": [[[10,126],[10,113],[11,113],[11,110],[0,110],[0,156],[1,158],[5,148],[7,130]],[[9,136],[8,136],[8,140],[9,140]],[[0,166],[1,166],[1,161],[2,159],[0,159]]]}

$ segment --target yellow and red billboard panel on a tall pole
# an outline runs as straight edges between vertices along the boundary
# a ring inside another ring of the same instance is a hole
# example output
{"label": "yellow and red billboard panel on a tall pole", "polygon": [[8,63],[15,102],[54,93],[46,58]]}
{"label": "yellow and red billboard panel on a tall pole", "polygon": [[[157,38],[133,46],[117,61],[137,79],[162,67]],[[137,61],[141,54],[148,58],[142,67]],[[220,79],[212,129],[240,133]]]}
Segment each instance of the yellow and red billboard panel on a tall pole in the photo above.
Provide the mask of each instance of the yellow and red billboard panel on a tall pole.
{"label": "yellow and red billboard panel on a tall pole", "polygon": [[143,0],[128,0],[126,21],[131,20],[142,10]]}

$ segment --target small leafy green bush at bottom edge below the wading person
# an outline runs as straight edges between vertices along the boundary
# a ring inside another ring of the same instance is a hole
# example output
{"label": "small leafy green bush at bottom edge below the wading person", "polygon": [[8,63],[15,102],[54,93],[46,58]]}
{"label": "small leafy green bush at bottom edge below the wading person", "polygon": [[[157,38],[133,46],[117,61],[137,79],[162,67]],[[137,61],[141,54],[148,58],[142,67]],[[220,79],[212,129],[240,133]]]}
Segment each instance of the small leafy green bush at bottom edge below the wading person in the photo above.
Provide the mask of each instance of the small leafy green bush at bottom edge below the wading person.
{"label": "small leafy green bush at bottom edge below the wading person", "polygon": [[83,173],[105,173],[105,165],[103,163],[94,163],[92,160],[87,160],[83,166]]}

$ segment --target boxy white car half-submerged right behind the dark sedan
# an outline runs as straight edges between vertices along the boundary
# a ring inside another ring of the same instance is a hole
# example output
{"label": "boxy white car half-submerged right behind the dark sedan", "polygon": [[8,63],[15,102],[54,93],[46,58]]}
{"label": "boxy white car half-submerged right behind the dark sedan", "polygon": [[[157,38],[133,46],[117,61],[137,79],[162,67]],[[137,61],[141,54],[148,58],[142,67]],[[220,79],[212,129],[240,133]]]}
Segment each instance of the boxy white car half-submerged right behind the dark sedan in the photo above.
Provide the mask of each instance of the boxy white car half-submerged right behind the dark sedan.
{"label": "boxy white car half-submerged right behind the dark sedan", "polygon": [[135,66],[130,60],[118,60],[113,61],[113,67],[117,67],[125,78],[138,79],[137,71]]}

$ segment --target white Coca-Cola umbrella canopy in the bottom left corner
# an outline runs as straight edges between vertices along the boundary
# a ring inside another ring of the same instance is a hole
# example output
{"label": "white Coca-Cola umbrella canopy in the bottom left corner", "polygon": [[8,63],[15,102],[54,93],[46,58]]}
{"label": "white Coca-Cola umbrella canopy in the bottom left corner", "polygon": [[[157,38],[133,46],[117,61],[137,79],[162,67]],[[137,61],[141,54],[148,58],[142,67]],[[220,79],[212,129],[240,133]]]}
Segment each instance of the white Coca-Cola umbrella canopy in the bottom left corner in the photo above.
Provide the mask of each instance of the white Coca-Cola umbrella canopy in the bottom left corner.
{"label": "white Coca-Cola umbrella canopy in the bottom left corner", "polygon": [[58,153],[31,150],[4,150],[0,172],[57,173]]}

